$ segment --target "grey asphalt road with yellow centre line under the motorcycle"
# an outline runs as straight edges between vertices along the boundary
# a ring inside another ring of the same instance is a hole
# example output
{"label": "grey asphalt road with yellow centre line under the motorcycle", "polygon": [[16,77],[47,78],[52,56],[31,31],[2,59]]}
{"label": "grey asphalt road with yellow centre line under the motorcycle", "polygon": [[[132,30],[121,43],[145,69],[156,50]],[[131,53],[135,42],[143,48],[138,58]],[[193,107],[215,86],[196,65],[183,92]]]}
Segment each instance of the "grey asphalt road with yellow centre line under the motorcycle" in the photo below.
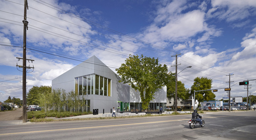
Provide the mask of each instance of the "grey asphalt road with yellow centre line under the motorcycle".
{"label": "grey asphalt road with yellow centre line under the motorcycle", "polygon": [[0,126],[0,140],[255,140],[256,111],[203,114],[204,127],[189,128],[191,115],[116,118]]}

